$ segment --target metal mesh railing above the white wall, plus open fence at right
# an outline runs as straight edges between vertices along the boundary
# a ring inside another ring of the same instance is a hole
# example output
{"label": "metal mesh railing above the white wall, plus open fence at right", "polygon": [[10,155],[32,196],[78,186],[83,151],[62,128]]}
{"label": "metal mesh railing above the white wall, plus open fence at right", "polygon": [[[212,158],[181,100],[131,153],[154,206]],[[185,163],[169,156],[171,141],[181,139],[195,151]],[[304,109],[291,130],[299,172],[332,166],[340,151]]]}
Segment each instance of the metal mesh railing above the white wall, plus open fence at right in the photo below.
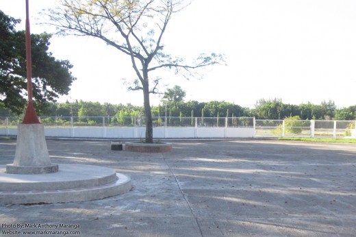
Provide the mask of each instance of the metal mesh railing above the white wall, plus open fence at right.
{"label": "metal mesh railing above the white wall, plus open fence at right", "polygon": [[[21,117],[0,117],[0,135],[22,123]],[[254,137],[320,137],[355,136],[356,121],[268,120],[251,117],[153,117],[153,127],[220,127],[253,128]],[[142,116],[49,117],[41,116],[45,127],[144,127]],[[5,131],[5,132],[4,132]]]}

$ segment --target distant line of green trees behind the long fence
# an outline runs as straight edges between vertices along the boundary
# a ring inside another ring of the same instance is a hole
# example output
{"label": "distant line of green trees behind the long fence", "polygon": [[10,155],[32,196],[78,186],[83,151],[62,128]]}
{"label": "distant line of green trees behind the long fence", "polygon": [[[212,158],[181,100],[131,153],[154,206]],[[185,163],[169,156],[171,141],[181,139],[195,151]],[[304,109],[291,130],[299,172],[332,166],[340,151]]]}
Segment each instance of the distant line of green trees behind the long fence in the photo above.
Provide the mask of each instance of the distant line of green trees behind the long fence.
{"label": "distant line of green trees behind the long fence", "polygon": [[[255,117],[256,119],[284,119],[298,116],[303,120],[355,120],[356,105],[338,109],[333,101],[301,103],[293,105],[283,103],[281,99],[259,99],[254,108],[244,108],[226,101],[162,101],[152,106],[152,116],[175,117]],[[9,110],[1,109],[0,116],[14,116]],[[144,116],[144,107],[127,104],[74,101],[65,103],[50,102],[46,111],[39,116]]]}

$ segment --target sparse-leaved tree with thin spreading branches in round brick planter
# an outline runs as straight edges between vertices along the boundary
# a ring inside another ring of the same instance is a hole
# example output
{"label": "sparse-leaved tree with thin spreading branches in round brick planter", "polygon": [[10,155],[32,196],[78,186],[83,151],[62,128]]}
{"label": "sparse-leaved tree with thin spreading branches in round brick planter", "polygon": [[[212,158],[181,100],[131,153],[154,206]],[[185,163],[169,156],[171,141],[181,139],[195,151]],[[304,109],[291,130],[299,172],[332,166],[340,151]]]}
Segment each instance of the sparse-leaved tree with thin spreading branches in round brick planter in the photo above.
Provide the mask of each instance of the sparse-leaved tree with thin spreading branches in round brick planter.
{"label": "sparse-leaved tree with thin spreading branches in round brick planter", "polygon": [[185,77],[194,69],[225,62],[223,55],[201,54],[191,65],[164,53],[162,38],[172,15],[185,0],[60,0],[58,8],[44,12],[58,34],[99,38],[131,60],[137,78],[129,90],[142,90],[146,116],[146,142],[153,142],[149,95],[157,92],[160,77],[149,73],[170,68]]}

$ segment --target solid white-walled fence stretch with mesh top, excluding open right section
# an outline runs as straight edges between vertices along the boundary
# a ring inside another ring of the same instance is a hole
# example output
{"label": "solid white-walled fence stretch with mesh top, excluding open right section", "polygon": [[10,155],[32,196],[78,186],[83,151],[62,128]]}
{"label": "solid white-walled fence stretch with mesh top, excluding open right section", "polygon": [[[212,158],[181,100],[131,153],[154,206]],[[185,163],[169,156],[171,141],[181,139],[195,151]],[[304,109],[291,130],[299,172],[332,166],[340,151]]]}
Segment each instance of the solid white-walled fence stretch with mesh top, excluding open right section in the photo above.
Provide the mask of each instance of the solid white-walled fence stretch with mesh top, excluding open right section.
{"label": "solid white-walled fence stretch with mesh top, excluding open right section", "polygon": [[[98,118],[95,117],[97,120]],[[134,121],[131,126],[121,126],[105,121],[112,121],[112,117],[107,119],[103,117],[101,125],[92,124],[76,125],[76,118],[71,118],[66,125],[55,125],[53,123],[44,122],[44,135],[47,137],[63,137],[63,138],[139,138],[144,139],[146,128],[143,120],[140,117],[125,117],[128,121]],[[79,121],[84,118],[77,118]],[[123,119],[123,118],[119,118]],[[228,121],[231,120],[231,125],[228,126]],[[153,127],[153,138],[253,138],[253,119],[249,120],[251,125],[238,125],[238,120],[242,118],[165,118],[162,122]],[[0,136],[16,136],[17,127],[10,123],[10,118],[0,120]],[[99,120],[101,120],[99,118]],[[236,121],[236,126],[233,126],[233,120]],[[40,121],[46,121],[44,117]],[[139,121],[140,124],[137,123]],[[180,123],[174,124],[174,121]],[[188,122],[187,122],[188,121]],[[17,123],[21,123],[18,121]],[[191,123],[193,125],[191,125]],[[172,124],[170,126],[170,124]]]}

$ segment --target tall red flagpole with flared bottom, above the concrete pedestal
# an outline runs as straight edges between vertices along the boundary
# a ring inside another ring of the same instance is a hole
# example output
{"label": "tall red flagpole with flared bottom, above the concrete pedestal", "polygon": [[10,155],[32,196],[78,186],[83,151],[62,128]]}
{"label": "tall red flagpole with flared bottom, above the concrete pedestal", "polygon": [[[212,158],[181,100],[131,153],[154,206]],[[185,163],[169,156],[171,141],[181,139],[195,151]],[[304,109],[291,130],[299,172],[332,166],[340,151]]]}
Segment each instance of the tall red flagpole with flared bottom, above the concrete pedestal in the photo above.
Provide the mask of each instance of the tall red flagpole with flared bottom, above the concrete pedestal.
{"label": "tall red flagpole with flared bottom, above the concrete pedestal", "polygon": [[26,68],[27,68],[27,109],[23,123],[40,123],[34,109],[34,101],[32,99],[32,62],[31,62],[31,34],[29,32],[29,0],[26,1]]}

